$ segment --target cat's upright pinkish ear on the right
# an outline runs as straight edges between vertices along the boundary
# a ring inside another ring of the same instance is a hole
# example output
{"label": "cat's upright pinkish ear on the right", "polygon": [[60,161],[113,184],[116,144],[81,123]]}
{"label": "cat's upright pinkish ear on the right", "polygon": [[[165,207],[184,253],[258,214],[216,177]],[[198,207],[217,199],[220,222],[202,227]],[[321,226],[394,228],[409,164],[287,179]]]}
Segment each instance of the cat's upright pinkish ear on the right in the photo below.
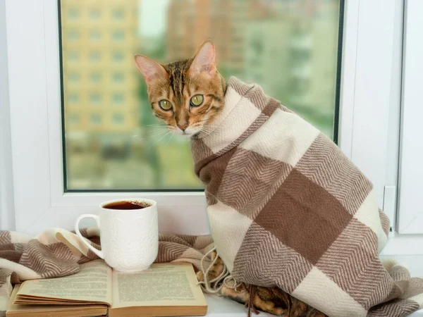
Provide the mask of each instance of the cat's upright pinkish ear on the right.
{"label": "cat's upright pinkish ear on the right", "polygon": [[190,75],[192,76],[203,72],[210,77],[216,74],[216,52],[210,39],[202,44],[190,66]]}

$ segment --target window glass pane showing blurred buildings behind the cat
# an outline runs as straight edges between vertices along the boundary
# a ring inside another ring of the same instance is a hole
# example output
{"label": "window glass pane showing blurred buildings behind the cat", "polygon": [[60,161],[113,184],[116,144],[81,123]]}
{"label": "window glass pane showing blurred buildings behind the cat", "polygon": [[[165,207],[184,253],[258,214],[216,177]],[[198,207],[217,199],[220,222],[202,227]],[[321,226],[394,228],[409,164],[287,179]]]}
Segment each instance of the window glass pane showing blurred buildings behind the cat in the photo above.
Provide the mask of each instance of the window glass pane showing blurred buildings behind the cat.
{"label": "window glass pane showing blurred buildings behind the cat", "polygon": [[61,0],[66,189],[202,188],[133,56],[176,61],[207,38],[223,77],[257,82],[333,137],[340,1]]}

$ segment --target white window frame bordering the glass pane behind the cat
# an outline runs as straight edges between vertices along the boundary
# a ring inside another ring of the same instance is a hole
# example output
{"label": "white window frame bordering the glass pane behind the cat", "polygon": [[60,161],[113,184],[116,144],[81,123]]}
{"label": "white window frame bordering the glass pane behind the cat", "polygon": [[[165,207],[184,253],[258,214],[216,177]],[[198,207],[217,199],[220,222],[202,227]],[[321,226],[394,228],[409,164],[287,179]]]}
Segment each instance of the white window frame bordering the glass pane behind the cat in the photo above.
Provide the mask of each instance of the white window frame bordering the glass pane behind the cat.
{"label": "white window frame bordering the glass pane behind the cat", "polygon": [[[200,192],[63,193],[57,3],[5,1],[16,230],[72,228],[101,201],[136,196],[158,202],[161,232],[207,234]],[[402,8],[403,0],[345,0],[338,135],[341,149],[372,180],[393,228],[398,148],[388,147],[388,136],[399,120]],[[391,236],[385,254],[423,254],[410,247],[410,239],[422,237]]]}

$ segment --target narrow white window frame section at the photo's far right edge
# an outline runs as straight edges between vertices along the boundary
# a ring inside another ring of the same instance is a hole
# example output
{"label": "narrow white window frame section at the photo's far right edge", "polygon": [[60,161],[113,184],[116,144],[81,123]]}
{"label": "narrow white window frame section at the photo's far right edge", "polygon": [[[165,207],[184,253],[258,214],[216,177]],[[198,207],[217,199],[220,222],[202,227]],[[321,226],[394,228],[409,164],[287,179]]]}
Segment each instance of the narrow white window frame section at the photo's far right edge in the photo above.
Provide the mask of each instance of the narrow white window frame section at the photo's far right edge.
{"label": "narrow white window frame section at the photo's far right edge", "polygon": [[403,102],[398,186],[398,232],[404,234],[423,233],[422,12],[422,1],[407,0],[404,14]]}

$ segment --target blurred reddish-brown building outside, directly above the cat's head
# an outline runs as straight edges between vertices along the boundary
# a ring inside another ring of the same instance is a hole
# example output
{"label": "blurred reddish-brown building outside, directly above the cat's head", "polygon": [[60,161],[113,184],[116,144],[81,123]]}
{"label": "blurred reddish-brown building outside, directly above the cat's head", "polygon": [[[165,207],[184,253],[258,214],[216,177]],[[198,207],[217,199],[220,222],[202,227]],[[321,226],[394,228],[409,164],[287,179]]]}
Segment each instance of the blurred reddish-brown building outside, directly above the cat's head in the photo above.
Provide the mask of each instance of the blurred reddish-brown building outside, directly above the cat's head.
{"label": "blurred reddish-brown building outside, directly above the cat's head", "polygon": [[202,42],[212,38],[221,67],[242,73],[245,27],[251,20],[274,13],[259,0],[171,0],[167,13],[168,61],[191,57]]}

